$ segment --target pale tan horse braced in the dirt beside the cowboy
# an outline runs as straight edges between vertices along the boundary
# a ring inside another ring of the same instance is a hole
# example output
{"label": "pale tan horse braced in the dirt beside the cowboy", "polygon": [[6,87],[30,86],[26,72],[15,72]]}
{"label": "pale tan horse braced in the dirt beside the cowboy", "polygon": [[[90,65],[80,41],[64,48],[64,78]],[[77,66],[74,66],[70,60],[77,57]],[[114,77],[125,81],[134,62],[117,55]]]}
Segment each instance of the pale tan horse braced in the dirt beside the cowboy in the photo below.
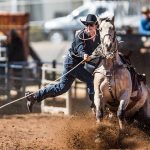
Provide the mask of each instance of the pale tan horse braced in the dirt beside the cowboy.
{"label": "pale tan horse braced in the dirt beside the cowboy", "polygon": [[[93,52],[93,55],[103,56],[94,73],[96,119],[97,122],[101,121],[105,106],[115,107],[119,126],[122,129],[124,118],[133,117],[144,105],[144,111],[150,117],[150,112],[147,112],[146,108],[148,107],[146,103],[149,103],[148,88],[141,82],[138,90],[132,93],[130,72],[118,54],[114,17],[99,19],[99,32],[101,49],[98,47]],[[133,94],[134,100],[131,99]]]}

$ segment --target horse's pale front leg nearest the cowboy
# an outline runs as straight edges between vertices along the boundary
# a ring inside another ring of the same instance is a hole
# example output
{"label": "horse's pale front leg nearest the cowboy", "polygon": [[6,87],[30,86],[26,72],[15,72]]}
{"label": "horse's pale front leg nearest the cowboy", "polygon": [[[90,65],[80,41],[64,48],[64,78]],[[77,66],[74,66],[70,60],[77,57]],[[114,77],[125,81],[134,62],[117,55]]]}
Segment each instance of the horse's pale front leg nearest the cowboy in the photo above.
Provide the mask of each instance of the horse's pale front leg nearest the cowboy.
{"label": "horse's pale front leg nearest the cowboy", "polygon": [[103,101],[102,101],[102,96],[100,92],[100,84],[102,82],[103,75],[100,73],[95,73],[94,74],[94,103],[96,106],[96,120],[97,122],[100,122],[100,120],[103,118]]}

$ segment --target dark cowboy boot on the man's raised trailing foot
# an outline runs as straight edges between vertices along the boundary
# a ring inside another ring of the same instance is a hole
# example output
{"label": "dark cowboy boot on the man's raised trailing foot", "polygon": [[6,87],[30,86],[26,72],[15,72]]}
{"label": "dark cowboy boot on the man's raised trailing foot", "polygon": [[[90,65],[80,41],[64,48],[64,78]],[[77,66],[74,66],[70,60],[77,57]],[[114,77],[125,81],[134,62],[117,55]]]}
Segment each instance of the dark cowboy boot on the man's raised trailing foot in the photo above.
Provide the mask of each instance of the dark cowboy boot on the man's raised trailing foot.
{"label": "dark cowboy boot on the man's raised trailing foot", "polygon": [[35,98],[35,95],[32,94],[32,92],[27,91],[27,92],[25,92],[25,96],[26,96],[26,99],[27,99],[28,111],[32,112],[33,105],[37,101],[36,98]]}

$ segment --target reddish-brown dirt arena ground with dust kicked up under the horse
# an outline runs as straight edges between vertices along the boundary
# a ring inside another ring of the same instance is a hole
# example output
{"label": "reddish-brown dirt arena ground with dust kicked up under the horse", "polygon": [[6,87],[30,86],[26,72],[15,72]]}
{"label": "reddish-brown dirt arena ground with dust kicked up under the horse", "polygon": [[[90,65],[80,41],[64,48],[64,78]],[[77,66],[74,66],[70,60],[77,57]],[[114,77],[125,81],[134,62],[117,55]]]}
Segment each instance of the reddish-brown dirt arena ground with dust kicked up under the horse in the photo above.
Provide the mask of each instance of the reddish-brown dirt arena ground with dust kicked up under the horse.
{"label": "reddish-brown dirt arena ground with dust kicked up under the horse", "polygon": [[150,149],[147,128],[134,123],[120,133],[115,117],[98,127],[82,97],[73,101],[72,116],[41,114],[39,107],[29,114],[23,101],[0,110],[0,150]]}

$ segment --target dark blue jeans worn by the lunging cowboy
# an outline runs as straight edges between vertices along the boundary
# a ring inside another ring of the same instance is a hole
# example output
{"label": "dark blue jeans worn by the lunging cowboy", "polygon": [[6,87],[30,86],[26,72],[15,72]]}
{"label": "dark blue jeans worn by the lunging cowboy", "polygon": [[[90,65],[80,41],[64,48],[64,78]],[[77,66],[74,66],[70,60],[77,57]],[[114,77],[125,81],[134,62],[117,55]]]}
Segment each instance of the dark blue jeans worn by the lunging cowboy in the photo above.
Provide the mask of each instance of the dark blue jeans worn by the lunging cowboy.
{"label": "dark blue jeans worn by the lunging cowboy", "polygon": [[[64,71],[62,76],[66,74],[71,68],[73,68],[78,62],[74,62],[73,58],[67,56],[64,63]],[[58,84],[49,84],[44,89],[41,89],[35,94],[35,97],[38,102],[42,101],[47,97],[55,97],[67,92],[73,81],[75,79],[79,79],[87,84],[88,94],[90,99],[93,101],[94,95],[94,85],[93,85],[93,76],[88,71],[84,69],[84,64],[79,65],[75,70],[70,72],[69,74],[63,76]]]}

